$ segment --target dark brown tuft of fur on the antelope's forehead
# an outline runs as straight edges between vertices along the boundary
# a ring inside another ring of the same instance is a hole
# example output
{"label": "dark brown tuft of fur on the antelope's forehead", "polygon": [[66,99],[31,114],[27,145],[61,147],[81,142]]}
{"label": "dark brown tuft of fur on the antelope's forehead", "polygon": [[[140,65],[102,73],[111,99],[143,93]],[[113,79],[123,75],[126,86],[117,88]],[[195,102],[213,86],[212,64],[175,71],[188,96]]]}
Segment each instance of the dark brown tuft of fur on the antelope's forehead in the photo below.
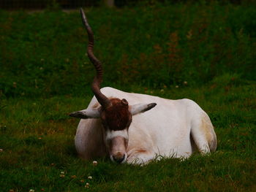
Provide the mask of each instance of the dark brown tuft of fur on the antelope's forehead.
{"label": "dark brown tuft of fur on the antelope's forehead", "polygon": [[124,130],[129,127],[132,115],[129,112],[128,102],[120,99],[110,99],[111,107],[104,110],[105,124],[113,131]]}

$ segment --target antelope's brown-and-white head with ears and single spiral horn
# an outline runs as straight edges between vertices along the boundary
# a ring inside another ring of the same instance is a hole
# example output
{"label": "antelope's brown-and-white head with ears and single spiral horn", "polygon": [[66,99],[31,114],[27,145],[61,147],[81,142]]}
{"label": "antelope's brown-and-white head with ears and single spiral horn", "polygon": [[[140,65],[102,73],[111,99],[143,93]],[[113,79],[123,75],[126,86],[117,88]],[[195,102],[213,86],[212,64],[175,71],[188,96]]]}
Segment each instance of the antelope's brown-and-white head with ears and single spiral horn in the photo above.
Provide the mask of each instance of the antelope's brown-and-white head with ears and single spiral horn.
{"label": "antelope's brown-and-white head with ears and single spiral horn", "polygon": [[94,35],[83,9],[80,9],[80,13],[89,36],[87,54],[97,71],[97,75],[94,77],[91,85],[91,90],[101,107],[72,112],[69,116],[82,119],[99,118],[102,122],[103,137],[110,154],[110,159],[117,163],[124,163],[127,159],[127,147],[129,142],[128,129],[132,123],[132,115],[151,110],[151,108],[155,107],[157,104],[129,105],[127,99],[109,99],[100,91],[100,83],[102,82],[103,76],[102,64],[94,56]]}

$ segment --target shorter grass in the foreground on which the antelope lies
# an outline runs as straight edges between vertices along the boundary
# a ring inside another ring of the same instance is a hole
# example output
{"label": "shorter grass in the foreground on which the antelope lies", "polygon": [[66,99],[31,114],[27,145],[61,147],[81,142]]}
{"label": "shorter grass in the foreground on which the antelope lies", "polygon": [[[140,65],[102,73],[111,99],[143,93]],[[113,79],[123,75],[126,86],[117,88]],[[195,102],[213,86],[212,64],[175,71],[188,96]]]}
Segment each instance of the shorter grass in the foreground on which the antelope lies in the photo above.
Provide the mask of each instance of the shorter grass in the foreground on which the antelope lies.
{"label": "shorter grass in the foreground on which the antelope lies", "polygon": [[[108,158],[83,161],[75,153],[78,120],[67,114],[90,97],[7,99],[1,107],[1,191],[254,191],[256,173],[255,85],[213,82],[201,88],[139,93],[194,99],[211,117],[217,152],[148,166],[118,165]],[[5,107],[4,107],[5,106]],[[64,172],[64,177],[61,176]],[[88,179],[91,176],[92,179]],[[89,183],[89,188],[85,188]]]}

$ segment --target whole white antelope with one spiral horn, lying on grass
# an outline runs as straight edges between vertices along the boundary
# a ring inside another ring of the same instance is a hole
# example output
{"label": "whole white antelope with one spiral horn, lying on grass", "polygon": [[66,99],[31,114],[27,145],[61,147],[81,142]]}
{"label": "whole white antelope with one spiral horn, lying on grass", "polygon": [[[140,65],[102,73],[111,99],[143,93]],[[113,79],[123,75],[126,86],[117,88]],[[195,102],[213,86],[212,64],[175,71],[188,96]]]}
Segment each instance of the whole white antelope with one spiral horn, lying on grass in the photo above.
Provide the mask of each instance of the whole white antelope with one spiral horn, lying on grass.
{"label": "whole white antelope with one spiral horn, lying on grass", "polygon": [[145,164],[156,156],[187,158],[195,150],[216,150],[211,120],[194,101],[100,89],[102,64],[94,56],[94,35],[83,9],[80,13],[89,36],[87,53],[97,71],[89,107],[70,114],[81,118],[75,135],[80,157],[110,155],[117,163]]}

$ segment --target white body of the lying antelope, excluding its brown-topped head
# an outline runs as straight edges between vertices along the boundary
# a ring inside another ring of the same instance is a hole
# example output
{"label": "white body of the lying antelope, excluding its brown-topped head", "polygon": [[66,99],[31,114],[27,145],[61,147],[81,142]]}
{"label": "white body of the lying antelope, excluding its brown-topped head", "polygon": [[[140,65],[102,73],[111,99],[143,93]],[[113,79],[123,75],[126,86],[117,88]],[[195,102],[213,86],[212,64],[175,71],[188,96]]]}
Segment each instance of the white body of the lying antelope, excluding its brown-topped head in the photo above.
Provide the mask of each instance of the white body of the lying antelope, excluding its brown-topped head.
{"label": "white body of the lying antelope, excluding its brown-topped head", "polygon": [[[200,153],[216,150],[217,138],[211,120],[194,101],[162,99],[115,88],[101,91],[108,98],[125,98],[130,105],[157,103],[153,109],[132,117],[128,131],[128,163],[146,163],[156,156],[187,158],[196,149]],[[94,96],[88,109],[97,107],[100,105]],[[102,130],[100,119],[80,120],[75,147],[82,158],[108,155]]]}

